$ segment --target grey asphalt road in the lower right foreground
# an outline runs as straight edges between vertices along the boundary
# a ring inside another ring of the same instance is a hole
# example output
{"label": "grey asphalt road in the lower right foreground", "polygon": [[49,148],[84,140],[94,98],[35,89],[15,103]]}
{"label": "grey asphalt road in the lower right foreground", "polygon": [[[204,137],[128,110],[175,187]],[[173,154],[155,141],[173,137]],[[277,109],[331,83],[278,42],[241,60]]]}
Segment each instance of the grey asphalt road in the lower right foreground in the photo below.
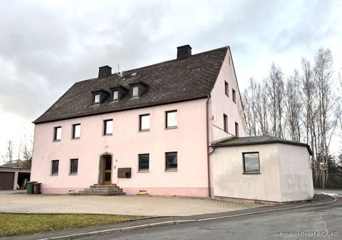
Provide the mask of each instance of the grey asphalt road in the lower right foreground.
{"label": "grey asphalt road in the lower right foreground", "polygon": [[342,239],[342,198],[328,206],[142,229],[90,239]]}

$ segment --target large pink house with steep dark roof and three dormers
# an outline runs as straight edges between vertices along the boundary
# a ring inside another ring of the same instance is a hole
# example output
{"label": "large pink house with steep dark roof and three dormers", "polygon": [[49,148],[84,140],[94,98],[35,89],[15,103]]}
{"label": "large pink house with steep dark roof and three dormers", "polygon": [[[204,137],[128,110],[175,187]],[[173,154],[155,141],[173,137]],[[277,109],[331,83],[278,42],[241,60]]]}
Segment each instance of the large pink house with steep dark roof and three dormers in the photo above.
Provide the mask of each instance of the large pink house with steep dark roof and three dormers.
{"label": "large pink house with steep dark roof and three dormers", "polygon": [[244,136],[229,46],[78,81],[33,122],[43,194],[116,184],[126,194],[212,196],[213,141]]}

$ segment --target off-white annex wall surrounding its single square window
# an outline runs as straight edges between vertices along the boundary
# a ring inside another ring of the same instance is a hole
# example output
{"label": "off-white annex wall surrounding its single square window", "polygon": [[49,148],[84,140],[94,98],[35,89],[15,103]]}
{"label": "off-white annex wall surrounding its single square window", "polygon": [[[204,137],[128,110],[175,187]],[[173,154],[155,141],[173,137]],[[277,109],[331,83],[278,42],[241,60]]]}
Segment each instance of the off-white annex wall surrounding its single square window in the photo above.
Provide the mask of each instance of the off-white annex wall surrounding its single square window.
{"label": "off-white annex wall surrounding its single square window", "polygon": [[[260,174],[244,174],[243,152],[259,151]],[[281,201],[276,144],[219,147],[213,154],[214,196]]]}

